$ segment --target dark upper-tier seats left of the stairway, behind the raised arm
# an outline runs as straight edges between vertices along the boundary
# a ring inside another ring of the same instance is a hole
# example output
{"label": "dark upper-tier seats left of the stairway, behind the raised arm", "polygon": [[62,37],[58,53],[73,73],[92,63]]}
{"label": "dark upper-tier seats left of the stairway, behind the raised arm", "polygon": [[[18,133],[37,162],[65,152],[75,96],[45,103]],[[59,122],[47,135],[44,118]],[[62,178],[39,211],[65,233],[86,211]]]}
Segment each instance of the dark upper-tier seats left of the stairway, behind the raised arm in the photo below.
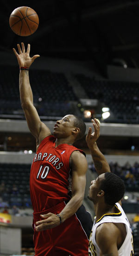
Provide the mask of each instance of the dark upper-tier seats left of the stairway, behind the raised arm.
{"label": "dark upper-tier seats left of the stairway, behind the raised arm", "polygon": [[[35,76],[34,76],[35,72]],[[0,69],[0,116],[25,118],[19,98],[19,71],[15,67]],[[40,116],[61,117],[71,112],[71,101],[76,101],[73,88],[62,73],[30,70],[34,105]],[[46,112],[47,110],[47,112]]]}

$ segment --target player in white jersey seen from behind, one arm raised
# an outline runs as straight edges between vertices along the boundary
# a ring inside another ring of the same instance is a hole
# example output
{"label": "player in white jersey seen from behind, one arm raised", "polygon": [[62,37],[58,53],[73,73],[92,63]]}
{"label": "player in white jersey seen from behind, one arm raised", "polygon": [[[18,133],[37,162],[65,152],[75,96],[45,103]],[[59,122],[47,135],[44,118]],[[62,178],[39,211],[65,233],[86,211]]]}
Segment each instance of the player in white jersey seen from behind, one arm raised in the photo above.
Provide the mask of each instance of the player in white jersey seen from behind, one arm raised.
{"label": "player in white jersey seen from behind, one arm raised", "polygon": [[91,143],[91,132],[86,140],[92,157],[95,154],[95,159],[100,159],[98,168],[105,169],[105,173],[91,182],[88,192],[96,214],[88,256],[133,256],[132,230],[120,201],[125,192],[124,182],[110,172],[106,158],[97,151],[96,143]]}

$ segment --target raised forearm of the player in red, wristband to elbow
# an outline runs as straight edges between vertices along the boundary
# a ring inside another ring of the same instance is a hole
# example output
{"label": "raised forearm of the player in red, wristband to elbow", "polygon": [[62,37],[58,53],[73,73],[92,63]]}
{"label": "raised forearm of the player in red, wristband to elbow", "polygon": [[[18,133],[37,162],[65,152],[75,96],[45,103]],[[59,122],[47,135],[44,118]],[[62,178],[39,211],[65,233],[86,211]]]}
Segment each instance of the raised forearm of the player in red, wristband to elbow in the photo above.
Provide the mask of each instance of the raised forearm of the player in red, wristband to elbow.
{"label": "raised forearm of the player in red, wristband to elbow", "polygon": [[19,73],[19,92],[22,108],[24,109],[30,102],[33,104],[32,88],[29,80],[29,71],[20,70]]}

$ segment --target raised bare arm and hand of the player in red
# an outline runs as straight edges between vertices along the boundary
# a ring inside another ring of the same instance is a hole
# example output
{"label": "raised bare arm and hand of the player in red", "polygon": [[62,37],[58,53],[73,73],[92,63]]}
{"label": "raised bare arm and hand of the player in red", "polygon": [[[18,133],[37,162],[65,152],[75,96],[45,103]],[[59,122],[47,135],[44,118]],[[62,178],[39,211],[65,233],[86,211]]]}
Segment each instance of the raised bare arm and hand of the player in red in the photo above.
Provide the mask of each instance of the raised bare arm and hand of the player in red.
{"label": "raised bare arm and hand of the player in red", "polygon": [[[28,44],[27,51],[25,52],[24,43],[21,43],[22,49],[18,44],[19,53],[13,48],[13,52],[18,59],[19,67],[29,68],[33,61],[39,57],[39,55],[34,55],[30,57],[30,44]],[[29,71],[20,70],[19,74],[19,92],[21,106],[25,112],[25,118],[28,127],[32,135],[37,139],[37,144],[39,144],[45,137],[51,134],[49,128],[41,122],[38,112],[33,105],[33,95],[32,88],[29,80]]]}

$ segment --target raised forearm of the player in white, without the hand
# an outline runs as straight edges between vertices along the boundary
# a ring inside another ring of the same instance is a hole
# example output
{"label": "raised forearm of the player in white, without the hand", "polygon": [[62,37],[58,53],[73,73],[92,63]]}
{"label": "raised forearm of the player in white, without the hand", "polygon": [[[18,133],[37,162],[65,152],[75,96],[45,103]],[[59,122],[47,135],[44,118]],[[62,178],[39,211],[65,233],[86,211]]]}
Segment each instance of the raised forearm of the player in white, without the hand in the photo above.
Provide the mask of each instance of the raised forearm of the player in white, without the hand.
{"label": "raised forearm of the player in white, without the hand", "polygon": [[104,157],[104,155],[99,150],[96,142],[89,149],[91,152],[92,159],[94,161],[95,170],[97,174],[100,175],[105,172],[110,172],[109,164],[107,163],[107,160]]}

